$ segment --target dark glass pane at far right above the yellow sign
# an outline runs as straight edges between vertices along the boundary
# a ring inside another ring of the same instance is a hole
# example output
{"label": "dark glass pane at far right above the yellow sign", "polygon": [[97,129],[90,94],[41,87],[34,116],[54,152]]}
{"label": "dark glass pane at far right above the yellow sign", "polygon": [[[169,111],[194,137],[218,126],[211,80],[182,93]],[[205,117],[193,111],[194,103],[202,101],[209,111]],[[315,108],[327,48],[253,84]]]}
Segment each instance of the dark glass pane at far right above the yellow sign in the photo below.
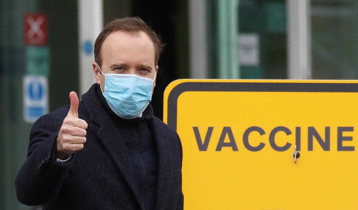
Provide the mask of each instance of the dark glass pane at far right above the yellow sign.
{"label": "dark glass pane at far right above the yellow sign", "polygon": [[357,3],[311,1],[313,79],[358,79]]}

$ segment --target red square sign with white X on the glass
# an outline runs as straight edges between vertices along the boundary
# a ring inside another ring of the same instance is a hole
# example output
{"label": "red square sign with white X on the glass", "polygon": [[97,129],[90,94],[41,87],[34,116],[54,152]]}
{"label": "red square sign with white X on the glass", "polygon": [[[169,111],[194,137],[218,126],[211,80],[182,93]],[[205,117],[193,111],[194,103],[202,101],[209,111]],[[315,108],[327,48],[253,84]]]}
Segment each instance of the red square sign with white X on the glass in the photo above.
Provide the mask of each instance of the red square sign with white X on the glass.
{"label": "red square sign with white X on the glass", "polygon": [[47,45],[47,17],[32,13],[24,17],[25,45]]}

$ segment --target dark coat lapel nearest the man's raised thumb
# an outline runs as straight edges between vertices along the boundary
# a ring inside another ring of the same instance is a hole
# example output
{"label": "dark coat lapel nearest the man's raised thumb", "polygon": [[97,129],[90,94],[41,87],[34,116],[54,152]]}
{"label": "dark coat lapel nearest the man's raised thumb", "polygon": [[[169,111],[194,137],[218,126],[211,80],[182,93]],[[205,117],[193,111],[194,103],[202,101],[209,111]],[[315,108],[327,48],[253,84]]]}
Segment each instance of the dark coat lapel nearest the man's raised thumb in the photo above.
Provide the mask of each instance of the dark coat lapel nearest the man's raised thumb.
{"label": "dark coat lapel nearest the man's raised thumb", "polygon": [[130,165],[121,133],[108,115],[108,112],[104,109],[103,103],[98,99],[95,85],[92,85],[89,91],[82,95],[82,100],[88,110],[91,120],[100,126],[100,129],[97,131],[98,139],[100,139],[105,146],[108,154],[111,156],[115,165],[134,193],[136,200],[139,202],[141,208],[144,209],[144,206],[140,201],[139,189],[133,180],[134,172],[132,171],[132,166]]}

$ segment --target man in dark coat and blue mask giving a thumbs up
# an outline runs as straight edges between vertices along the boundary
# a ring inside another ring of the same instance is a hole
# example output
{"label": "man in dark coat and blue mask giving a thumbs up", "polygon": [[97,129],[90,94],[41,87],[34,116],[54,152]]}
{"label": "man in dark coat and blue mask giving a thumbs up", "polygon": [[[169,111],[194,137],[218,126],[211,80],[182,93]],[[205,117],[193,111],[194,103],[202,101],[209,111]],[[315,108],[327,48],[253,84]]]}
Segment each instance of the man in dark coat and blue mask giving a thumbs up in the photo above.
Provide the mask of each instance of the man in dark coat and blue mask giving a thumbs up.
{"label": "man in dark coat and blue mask giving a thumbs up", "polygon": [[93,84],[40,117],[15,180],[43,209],[183,209],[179,136],[149,101],[163,47],[140,18],[117,19],[95,43]]}

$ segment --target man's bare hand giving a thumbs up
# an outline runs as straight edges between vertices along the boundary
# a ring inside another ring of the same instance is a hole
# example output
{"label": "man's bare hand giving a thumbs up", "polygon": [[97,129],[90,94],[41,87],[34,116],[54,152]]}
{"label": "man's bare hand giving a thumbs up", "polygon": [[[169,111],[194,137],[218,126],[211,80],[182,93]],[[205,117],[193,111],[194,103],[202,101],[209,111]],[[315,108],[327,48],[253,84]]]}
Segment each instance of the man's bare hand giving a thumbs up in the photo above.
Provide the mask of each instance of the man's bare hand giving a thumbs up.
{"label": "man's bare hand giving a thumbs up", "polygon": [[57,158],[64,160],[74,152],[83,149],[86,142],[87,122],[78,118],[78,97],[76,92],[69,93],[71,107],[63,120],[57,136]]}

